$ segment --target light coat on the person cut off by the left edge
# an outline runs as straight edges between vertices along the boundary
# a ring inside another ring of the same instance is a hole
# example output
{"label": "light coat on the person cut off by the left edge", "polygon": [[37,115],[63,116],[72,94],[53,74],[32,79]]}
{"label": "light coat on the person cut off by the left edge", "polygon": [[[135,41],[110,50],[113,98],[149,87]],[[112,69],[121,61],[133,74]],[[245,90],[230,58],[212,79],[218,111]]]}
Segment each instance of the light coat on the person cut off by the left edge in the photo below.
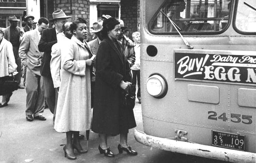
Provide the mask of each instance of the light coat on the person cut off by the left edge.
{"label": "light coat on the person cut off by the left edge", "polygon": [[9,72],[16,71],[17,65],[12,50],[12,44],[5,38],[2,38],[0,44],[0,77],[8,76]]}

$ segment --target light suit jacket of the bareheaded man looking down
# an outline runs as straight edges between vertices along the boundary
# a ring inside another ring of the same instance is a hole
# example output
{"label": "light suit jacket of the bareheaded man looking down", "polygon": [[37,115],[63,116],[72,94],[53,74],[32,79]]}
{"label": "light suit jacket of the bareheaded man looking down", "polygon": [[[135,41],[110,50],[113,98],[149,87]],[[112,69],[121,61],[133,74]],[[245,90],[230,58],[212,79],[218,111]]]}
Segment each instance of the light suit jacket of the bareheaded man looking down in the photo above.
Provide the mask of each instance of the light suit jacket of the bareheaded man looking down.
{"label": "light suit jacket of the bareheaded man looking down", "polygon": [[39,37],[37,29],[24,33],[19,46],[19,57],[23,65],[34,74],[40,75],[43,53],[38,50]]}

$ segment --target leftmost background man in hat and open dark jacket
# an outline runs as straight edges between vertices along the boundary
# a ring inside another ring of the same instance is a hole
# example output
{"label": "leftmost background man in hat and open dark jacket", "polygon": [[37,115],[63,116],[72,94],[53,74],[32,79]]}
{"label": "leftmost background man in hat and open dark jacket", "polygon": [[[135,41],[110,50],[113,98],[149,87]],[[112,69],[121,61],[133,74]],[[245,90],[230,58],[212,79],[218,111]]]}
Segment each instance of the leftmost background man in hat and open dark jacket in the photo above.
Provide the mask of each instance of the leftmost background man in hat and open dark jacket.
{"label": "leftmost background man in hat and open dark jacket", "polygon": [[15,15],[9,16],[11,26],[7,27],[4,30],[4,38],[7,39],[9,42],[12,43],[13,54],[15,57],[15,63],[17,64],[17,71],[18,74],[14,76],[14,79],[18,82],[18,88],[24,89],[25,87],[20,85],[20,79],[22,76],[22,66],[19,58],[19,45],[20,45],[20,38],[23,35],[23,30],[17,27],[19,19],[16,18]]}

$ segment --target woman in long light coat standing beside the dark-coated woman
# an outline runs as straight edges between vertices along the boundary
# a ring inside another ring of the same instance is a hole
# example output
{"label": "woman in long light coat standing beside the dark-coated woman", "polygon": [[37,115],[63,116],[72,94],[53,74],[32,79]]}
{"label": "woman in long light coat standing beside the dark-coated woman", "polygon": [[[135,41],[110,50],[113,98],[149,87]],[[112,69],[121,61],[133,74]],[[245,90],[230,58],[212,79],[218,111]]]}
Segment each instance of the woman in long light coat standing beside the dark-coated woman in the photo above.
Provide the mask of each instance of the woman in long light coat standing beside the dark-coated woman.
{"label": "woman in long light coat standing beside the dark-coated woman", "polygon": [[[91,126],[90,66],[93,60],[84,41],[87,37],[86,20],[78,18],[70,25],[73,36],[61,48],[61,72],[54,129],[66,132],[65,157],[76,159],[73,149],[86,153],[79,140],[79,131]],[[72,135],[74,137],[71,143]]]}

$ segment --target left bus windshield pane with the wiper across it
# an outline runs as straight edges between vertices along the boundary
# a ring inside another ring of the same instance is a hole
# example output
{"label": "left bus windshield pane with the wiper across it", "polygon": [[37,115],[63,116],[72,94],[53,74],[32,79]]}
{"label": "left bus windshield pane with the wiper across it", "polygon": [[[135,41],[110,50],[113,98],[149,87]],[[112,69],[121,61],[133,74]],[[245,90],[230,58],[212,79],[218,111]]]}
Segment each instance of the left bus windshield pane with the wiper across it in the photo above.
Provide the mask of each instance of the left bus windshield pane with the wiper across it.
{"label": "left bus windshield pane with the wiper across it", "polygon": [[151,19],[150,31],[176,34],[165,13],[180,32],[218,32],[227,28],[232,0],[166,0]]}

